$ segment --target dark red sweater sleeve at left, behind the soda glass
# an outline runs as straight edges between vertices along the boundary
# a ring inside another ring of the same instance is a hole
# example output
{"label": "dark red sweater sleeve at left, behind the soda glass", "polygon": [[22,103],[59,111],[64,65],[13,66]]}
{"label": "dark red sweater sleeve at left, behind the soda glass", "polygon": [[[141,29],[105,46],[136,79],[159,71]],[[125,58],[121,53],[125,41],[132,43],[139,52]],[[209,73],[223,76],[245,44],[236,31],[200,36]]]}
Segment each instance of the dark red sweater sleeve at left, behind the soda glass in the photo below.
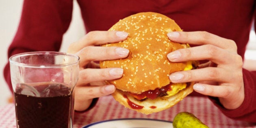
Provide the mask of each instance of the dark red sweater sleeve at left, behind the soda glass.
{"label": "dark red sweater sleeve at left, behind the soda glass", "polygon": [[[71,22],[72,8],[73,0],[24,0],[8,58],[22,52],[59,51]],[[4,78],[12,90],[9,63],[4,67]]]}

